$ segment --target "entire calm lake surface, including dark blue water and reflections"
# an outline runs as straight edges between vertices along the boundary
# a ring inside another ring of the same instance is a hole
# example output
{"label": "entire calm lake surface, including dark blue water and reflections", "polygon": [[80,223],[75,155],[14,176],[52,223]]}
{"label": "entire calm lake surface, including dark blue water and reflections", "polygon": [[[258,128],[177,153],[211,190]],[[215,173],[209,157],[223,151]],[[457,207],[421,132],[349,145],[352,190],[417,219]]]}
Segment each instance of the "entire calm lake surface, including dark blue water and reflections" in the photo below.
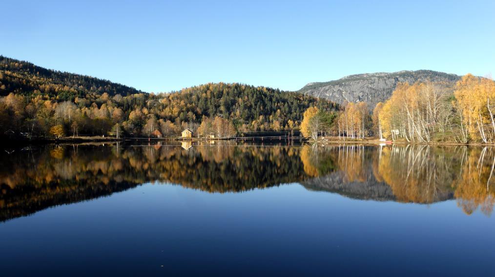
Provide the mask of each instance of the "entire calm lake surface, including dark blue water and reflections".
{"label": "entire calm lake surface, including dark blue water and reflections", "polygon": [[495,276],[492,148],[11,151],[1,276]]}

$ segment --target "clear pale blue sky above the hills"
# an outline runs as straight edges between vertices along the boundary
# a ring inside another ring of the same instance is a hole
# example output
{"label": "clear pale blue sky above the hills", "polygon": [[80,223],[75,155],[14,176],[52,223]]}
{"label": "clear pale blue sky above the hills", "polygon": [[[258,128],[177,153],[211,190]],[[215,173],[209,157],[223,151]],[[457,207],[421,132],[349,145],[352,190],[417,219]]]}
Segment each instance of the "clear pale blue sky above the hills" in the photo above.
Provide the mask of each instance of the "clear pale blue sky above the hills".
{"label": "clear pale blue sky above the hills", "polygon": [[1,3],[0,54],[148,92],[297,90],[358,73],[495,71],[495,1]]}

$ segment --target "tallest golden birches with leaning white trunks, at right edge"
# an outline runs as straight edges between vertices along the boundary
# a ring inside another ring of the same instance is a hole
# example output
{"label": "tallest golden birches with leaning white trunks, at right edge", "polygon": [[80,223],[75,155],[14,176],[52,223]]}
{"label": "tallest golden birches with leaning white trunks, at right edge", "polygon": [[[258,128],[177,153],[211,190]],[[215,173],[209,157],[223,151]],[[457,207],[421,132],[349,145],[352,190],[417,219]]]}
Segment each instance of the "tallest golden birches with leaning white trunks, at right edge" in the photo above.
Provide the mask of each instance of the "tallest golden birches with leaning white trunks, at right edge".
{"label": "tallest golden birches with leaning white trunks, at right edge", "polygon": [[455,85],[415,83],[397,86],[375,108],[382,135],[407,142],[494,143],[495,84],[471,74]]}

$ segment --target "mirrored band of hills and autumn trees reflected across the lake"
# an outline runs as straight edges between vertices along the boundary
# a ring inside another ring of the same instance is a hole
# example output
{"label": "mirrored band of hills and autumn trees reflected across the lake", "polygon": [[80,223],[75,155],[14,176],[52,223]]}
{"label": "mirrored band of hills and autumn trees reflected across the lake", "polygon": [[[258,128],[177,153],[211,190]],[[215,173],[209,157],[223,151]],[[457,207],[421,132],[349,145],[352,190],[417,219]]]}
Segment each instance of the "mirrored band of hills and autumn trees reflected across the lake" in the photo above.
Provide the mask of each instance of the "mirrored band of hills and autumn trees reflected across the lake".
{"label": "mirrored band of hills and autumn trees reflected across the lake", "polygon": [[0,158],[0,221],[144,183],[211,193],[300,183],[370,200],[434,203],[455,198],[471,214],[495,203],[495,150],[425,145],[329,147],[178,143],[47,145]]}

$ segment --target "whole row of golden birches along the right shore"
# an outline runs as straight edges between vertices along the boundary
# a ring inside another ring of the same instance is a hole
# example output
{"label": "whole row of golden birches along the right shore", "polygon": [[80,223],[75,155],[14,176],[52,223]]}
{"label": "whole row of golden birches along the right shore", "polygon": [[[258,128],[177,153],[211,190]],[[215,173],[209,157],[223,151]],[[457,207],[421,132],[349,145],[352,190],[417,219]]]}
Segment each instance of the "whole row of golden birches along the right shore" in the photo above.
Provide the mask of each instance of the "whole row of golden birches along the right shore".
{"label": "whole row of golden birches along the right shore", "polygon": [[456,83],[399,83],[373,111],[365,102],[351,102],[334,112],[332,120],[310,107],[301,132],[315,140],[330,132],[342,140],[375,136],[404,142],[494,143],[494,113],[494,81],[467,74]]}

